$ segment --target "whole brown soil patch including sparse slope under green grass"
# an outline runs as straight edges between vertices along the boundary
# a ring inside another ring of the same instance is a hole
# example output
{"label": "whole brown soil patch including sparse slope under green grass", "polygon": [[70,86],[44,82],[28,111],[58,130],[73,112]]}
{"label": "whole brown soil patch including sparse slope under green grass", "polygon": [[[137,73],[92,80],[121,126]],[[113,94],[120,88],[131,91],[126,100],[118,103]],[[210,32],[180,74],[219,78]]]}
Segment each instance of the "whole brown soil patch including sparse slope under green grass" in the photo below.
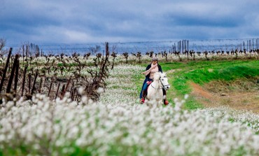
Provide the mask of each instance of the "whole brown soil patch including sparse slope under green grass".
{"label": "whole brown soil patch including sparse slope under green grass", "polygon": [[204,86],[190,83],[191,93],[205,107],[230,106],[259,113],[259,83],[257,78],[231,82],[212,81]]}

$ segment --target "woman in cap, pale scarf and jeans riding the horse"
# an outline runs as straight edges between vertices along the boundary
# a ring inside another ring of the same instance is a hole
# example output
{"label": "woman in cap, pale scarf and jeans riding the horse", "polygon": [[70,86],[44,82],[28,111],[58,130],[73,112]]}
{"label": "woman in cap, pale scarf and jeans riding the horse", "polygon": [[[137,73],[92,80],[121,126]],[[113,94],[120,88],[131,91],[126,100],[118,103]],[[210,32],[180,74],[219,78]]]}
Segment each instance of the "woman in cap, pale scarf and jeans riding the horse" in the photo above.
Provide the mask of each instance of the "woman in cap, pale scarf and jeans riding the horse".
{"label": "woman in cap, pale scarf and jeans riding the horse", "polygon": [[[148,88],[148,85],[153,82],[153,78],[154,78],[154,73],[160,71],[162,73],[162,68],[160,66],[160,64],[158,64],[158,57],[153,57],[152,58],[152,63],[148,64],[148,66],[146,67],[146,71],[144,71],[142,74],[146,75],[146,78],[144,80],[144,83],[142,85],[142,89],[139,95],[139,98],[141,99],[140,103],[144,104],[145,102],[145,97],[146,97],[146,91]],[[164,104],[167,105],[169,104],[169,102],[166,99],[166,91],[163,89],[163,94],[164,94]]]}

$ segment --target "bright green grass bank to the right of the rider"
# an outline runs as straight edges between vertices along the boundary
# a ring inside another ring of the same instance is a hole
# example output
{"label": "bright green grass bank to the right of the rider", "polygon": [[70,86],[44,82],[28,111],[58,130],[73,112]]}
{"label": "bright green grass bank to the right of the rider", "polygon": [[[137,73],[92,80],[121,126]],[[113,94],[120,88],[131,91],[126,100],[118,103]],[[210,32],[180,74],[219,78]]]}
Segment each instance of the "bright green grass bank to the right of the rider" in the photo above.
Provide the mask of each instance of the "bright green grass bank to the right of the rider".
{"label": "bright green grass bank to the right of the rider", "polygon": [[[147,66],[148,64],[142,64]],[[211,80],[231,81],[238,78],[254,78],[259,76],[258,60],[218,60],[218,61],[189,61],[189,62],[160,62],[163,72],[167,72],[169,84],[167,99],[174,104],[174,98],[183,99],[185,94],[192,92],[189,82],[199,85]],[[174,70],[174,72],[172,72]],[[136,76],[137,86],[141,86],[144,76]],[[141,84],[140,84],[141,83]],[[140,88],[141,90],[141,88]],[[202,108],[202,104],[189,97],[184,108],[191,110]]]}

